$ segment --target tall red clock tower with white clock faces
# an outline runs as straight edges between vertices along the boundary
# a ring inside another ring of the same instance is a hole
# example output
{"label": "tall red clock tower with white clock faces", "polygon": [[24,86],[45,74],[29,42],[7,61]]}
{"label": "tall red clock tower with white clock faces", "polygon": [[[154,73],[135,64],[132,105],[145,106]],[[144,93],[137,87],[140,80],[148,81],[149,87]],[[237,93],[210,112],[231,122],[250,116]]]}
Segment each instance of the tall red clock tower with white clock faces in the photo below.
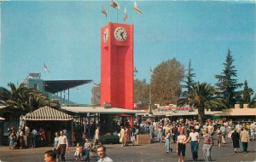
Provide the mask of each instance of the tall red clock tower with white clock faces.
{"label": "tall red clock tower with white clock faces", "polygon": [[102,27],[101,59],[101,106],[133,110],[133,25]]}

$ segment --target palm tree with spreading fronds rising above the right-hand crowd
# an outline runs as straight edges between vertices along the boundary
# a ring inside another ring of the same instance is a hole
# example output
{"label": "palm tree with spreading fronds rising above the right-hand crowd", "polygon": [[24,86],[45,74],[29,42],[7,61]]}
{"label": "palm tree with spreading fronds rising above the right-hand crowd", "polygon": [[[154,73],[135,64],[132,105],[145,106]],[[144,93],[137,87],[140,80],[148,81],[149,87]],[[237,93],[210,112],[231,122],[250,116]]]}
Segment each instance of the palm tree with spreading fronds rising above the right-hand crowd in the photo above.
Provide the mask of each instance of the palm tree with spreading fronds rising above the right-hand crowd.
{"label": "palm tree with spreading fronds rising above the right-hand crowd", "polygon": [[192,84],[191,90],[186,92],[187,97],[180,98],[177,105],[191,105],[198,109],[198,120],[202,124],[205,120],[205,109],[211,107],[224,107],[224,100],[222,97],[215,95],[215,88],[207,83]]}

